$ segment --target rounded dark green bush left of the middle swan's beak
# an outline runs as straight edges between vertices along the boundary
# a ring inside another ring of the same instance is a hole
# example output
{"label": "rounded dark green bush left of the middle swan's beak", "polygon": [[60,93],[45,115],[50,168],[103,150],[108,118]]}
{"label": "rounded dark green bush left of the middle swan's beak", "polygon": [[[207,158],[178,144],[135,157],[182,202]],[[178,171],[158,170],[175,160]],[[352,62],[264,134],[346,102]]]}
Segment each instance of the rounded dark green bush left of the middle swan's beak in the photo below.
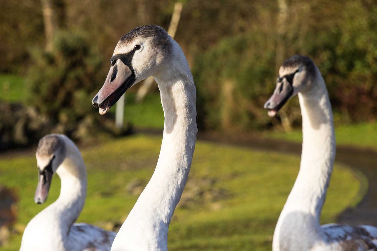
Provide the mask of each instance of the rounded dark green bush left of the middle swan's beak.
{"label": "rounded dark green bush left of the middle swan's beak", "polygon": [[52,52],[34,49],[32,59],[26,77],[29,104],[56,121],[97,112],[88,104],[102,84],[103,60],[80,32],[59,32]]}

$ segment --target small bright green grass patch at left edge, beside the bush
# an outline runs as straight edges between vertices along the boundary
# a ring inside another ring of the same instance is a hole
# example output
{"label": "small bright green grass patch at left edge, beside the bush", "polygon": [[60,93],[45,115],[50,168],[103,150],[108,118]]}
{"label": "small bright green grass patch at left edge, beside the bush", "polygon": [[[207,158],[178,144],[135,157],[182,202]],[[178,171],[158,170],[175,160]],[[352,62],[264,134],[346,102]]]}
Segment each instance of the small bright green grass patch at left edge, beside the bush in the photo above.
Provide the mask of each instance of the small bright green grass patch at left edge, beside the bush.
{"label": "small bright green grass patch at left edge, beside the bush", "polygon": [[12,74],[0,74],[0,99],[18,102],[25,98],[23,77]]}

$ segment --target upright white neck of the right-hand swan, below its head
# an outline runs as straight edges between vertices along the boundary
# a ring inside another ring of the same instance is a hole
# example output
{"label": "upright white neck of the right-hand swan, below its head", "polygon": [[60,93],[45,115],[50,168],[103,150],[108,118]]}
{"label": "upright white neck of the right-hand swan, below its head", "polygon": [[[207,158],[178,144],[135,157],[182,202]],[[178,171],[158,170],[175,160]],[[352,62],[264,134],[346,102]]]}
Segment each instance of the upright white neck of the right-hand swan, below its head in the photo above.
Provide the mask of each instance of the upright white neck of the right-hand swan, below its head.
{"label": "upright white neck of the right-hand swan, below its head", "polygon": [[312,93],[299,93],[303,142],[300,171],[294,189],[302,195],[308,211],[319,222],[333,171],[335,133],[324,81],[316,87],[310,90]]}

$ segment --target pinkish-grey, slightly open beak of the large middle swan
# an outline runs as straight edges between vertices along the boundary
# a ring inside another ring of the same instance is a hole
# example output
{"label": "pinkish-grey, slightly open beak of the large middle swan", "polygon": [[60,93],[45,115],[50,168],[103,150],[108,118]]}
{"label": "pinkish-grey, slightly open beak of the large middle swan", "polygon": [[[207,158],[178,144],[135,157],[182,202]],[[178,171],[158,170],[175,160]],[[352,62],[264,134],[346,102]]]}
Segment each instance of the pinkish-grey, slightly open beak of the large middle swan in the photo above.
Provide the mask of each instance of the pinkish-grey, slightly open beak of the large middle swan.
{"label": "pinkish-grey, slightly open beak of the large middle swan", "polygon": [[92,105],[100,108],[103,115],[120,99],[124,92],[132,86],[135,75],[130,67],[120,59],[110,67],[106,81],[100,91],[93,98]]}

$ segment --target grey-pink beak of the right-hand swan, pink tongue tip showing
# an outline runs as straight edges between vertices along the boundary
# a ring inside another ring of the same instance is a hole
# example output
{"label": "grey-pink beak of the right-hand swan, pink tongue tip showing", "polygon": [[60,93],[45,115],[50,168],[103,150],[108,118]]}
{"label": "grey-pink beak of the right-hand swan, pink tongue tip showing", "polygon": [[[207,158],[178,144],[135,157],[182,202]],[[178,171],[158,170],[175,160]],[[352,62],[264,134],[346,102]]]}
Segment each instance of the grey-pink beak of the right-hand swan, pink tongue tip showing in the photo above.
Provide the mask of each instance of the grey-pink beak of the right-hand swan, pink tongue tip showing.
{"label": "grey-pink beak of the right-hand swan, pink tongue tip showing", "polygon": [[286,79],[277,82],[273,95],[264,104],[264,108],[268,110],[268,116],[275,116],[292,95],[293,87]]}

